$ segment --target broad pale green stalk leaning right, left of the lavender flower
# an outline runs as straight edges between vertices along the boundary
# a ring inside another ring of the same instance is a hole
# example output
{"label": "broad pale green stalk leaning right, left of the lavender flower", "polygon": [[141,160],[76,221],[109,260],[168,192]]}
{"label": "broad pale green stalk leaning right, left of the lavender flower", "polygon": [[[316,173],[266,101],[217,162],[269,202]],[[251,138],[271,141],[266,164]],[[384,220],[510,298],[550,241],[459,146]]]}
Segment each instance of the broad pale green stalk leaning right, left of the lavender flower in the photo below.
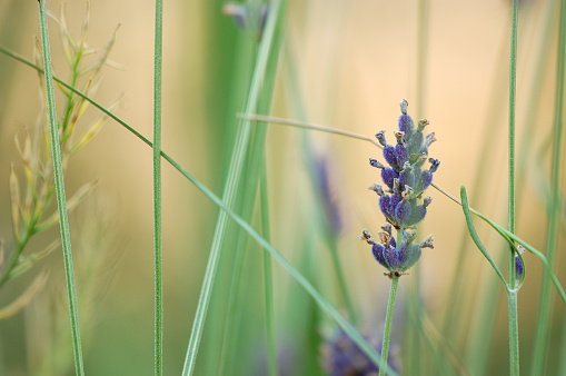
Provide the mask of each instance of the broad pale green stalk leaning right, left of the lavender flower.
{"label": "broad pale green stalk leaning right, left of the lavender flower", "polygon": [[[276,22],[280,21],[279,11],[281,9],[282,1],[274,1],[271,3],[269,17],[267,20],[266,29],[264,32],[262,41],[259,47],[256,70],[251,79],[250,92],[248,97],[248,103],[246,106],[246,113],[252,113],[256,110],[259,92],[262,83],[262,79],[266,71],[267,60],[271,51],[272,36],[276,30]],[[236,136],[235,149],[232,151],[232,158],[230,159],[230,166],[228,169],[228,177],[222,195],[222,201],[226,206],[231,208],[235,202],[237,187],[239,186],[241,171],[244,168],[245,155],[248,149],[249,138],[251,132],[251,125],[249,120],[240,121],[238,132]],[[216,271],[218,269],[218,261],[220,258],[220,249],[225,238],[225,232],[228,225],[228,215],[225,210],[220,211],[217,220],[217,226],[212,239],[211,250],[205,273],[205,279],[201,287],[197,313],[195,315],[195,321],[192,325],[192,332],[189,339],[189,346],[185,358],[185,365],[182,375],[192,375],[196,365],[196,358],[200,338],[202,337],[202,330],[205,327],[206,315],[208,306],[210,304],[210,296],[212,294],[212,286],[216,278]]]}

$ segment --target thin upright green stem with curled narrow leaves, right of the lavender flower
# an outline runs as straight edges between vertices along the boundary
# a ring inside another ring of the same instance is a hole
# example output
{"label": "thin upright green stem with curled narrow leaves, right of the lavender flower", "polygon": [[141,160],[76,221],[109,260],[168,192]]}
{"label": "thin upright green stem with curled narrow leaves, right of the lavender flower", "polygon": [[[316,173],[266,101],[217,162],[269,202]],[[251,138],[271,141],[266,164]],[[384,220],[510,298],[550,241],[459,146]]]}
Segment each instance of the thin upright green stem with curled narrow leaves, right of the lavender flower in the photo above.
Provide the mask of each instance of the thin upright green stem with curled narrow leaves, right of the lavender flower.
{"label": "thin upright green stem with curled narrow leaves, right of the lavender flower", "polygon": [[[512,40],[509,62],[509,187],[508,226],[515,232],[515,99],[517,78],[517,19],[518,0],[512,3]],[[519,375],[519,328],[517,319],[517,290],[515,289],[515,247],[509,247],[509,286],[507,289],[507,314],[509,324],[509,368],[510,375]]]}

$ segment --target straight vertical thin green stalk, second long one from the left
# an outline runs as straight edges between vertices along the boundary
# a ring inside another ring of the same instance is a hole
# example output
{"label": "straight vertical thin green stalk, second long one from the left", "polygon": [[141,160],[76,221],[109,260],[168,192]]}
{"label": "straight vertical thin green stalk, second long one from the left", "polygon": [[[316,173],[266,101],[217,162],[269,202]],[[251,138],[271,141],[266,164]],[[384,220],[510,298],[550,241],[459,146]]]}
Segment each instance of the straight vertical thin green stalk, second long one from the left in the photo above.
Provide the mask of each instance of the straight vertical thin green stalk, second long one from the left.
{"label": "straight vertical thin green stalk, second long one from the left", "polygon": [[155,264],[155,375],[163,374],[163,266],[161,234],[161,61],[163,1],[156,0],[153,61],[153,264]]}

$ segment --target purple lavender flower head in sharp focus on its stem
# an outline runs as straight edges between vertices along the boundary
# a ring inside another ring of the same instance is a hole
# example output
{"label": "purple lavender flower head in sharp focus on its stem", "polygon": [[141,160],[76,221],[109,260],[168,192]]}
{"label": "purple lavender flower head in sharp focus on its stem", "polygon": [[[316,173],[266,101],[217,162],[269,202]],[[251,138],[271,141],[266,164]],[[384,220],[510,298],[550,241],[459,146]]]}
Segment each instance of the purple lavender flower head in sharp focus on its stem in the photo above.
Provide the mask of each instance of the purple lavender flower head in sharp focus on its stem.
{"label": "purple lavender flower head in sharp focus on its stem", "polygon": [[[388,166],[369,159],[373,167],[381,170],[384,186],[374,184],[369,189],[379,196],[379,208],[388,224],[378,232],[378,243],[367,230],[360,236],[371,245],[376,260],[390,273],[407,270],[419,259],[421,248],[434,248],[431,236],[420,244],[413,241],[416,238],[414,229],[425,218],[427,207],[433,201],[430,196],[423,195],[440,165],[438,159],[428,158],[428,148],[436,137],[435,132],[424,136],[423,130],[429,125],[426,119],[419,120],[415,127],[407,107],[408,102],[404,99],[400,102],[401,115],[399,130],[395,132],[395,145],[387,144],[385,130],[376,133]],[[393,227],[398,232],[397,240],[391,234]]]}

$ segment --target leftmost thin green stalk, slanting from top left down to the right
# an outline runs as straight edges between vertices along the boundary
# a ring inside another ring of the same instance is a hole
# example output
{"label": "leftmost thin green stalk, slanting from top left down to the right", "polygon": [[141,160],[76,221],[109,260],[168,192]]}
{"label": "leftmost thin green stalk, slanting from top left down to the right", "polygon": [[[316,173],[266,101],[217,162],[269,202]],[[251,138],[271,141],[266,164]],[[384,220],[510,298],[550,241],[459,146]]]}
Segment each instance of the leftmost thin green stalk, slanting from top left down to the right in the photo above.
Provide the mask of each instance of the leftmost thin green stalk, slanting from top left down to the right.
{"label": "leftmost thin green stalk, slanting from top left down to the right", "polygon": [[51,156],[53,159],[53,176],[59,210],[59,226],[61,229],[61,245],[63,249],[64,277],[67,280],[67,297],[69,300],[69,316],[71,320],[72,352],[75,356],[75,373],[85,375],[82,349],[80,344],[79,308],[77,304],[77,289],[75,287],[75,271],[72,267],[71,236],[67,204],[64,196],[63,170],[61,164],[61,147],[59,144],[59,126],[53,92],[53,72],[51,69],[51,53],[49,51],[49,31],[47,27],[46,0],[39,0],[39,26],[41,30],[41,49],[43,55],[43,69],[46,78],[46,97],[49,118],[49,132],[51,139]]}

